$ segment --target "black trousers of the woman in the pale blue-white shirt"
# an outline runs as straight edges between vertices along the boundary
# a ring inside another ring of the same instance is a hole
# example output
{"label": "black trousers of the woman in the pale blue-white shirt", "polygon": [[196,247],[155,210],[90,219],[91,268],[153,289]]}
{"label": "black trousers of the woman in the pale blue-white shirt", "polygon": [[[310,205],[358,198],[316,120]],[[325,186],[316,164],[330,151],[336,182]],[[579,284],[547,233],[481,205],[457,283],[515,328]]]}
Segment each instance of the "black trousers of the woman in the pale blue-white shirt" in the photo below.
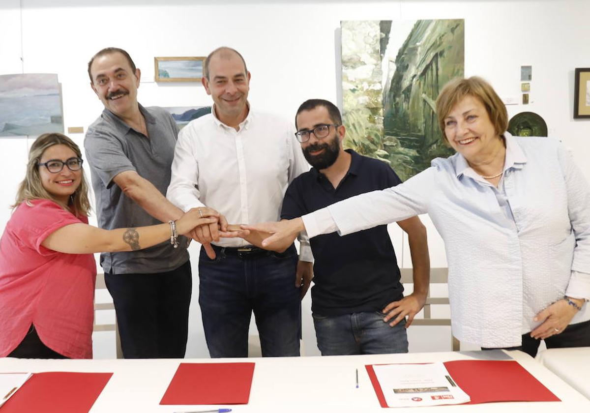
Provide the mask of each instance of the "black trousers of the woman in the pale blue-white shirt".
{"label": "black trousers of the woman in the pale blue-white shirt", "polygon": [[[530,333],[522,335],[522,345],[516,347],[506,347],[504,350],[521,350],[531,357],[537,355],[537,350],[541,343],[540,339],[533,339]],[[588,347],[590,346],[590,321],[583,323],[569,324],[563,332],[547,337],[545,345],[548,349],[564,347]],[[482,350],[493,350],[490,348],[481,348]]]}

